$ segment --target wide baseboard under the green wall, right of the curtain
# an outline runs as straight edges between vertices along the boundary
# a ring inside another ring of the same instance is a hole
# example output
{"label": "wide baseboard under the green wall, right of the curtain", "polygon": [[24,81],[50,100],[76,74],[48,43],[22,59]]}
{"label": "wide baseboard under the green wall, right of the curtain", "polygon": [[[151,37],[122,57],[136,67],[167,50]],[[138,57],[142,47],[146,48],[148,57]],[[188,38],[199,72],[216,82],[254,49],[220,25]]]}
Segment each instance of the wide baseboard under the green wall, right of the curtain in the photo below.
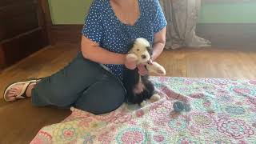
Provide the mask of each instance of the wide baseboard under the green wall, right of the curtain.
{"label": "wide baseboard under the green wall, right of the curtain", "polygon": [[212,46],[256,46],[256,23],[199,23],[196,33]]}

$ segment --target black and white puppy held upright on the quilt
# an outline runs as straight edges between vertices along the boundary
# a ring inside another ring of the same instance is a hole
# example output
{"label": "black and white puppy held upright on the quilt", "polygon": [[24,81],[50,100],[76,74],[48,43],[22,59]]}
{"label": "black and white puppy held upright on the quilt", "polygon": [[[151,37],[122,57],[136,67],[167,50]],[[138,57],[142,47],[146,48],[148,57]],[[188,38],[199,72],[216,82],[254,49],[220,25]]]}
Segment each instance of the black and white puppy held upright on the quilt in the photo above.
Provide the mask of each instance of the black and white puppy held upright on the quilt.
{"label": "black and white puppy held upright on the quilt", "polygon": [[[137,38],[130,43],[129,53],[135,54],[138,58],[138,62],[149,62],[152,54],[152,47],[150,42],[145,38]],[[123,74],[123,85],[127,92],[127,102],[142,105],[147,99],[150,100],[154,95],[154,85],[149,80],[149,75],[138,74],[138,68],[130,70],[125,68]],[[158,96],[157,96],[158,97]],[[158,100],[158,98],[153,98]]]}

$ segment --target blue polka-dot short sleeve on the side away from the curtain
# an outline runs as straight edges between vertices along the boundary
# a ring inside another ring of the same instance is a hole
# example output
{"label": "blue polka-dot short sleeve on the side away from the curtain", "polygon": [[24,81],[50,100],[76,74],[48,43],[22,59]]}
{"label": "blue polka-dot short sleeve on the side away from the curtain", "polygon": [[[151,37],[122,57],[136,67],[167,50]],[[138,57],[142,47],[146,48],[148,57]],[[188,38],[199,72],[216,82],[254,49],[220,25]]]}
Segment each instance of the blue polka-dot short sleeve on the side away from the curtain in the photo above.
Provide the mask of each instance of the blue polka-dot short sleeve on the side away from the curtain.
{"label": "blue polka-dot short sleeve on the side away from the curtain", "polygon": [[90,40],[100,43],[102,39],[102,1],[94,0],[86,16],[82,34]]}

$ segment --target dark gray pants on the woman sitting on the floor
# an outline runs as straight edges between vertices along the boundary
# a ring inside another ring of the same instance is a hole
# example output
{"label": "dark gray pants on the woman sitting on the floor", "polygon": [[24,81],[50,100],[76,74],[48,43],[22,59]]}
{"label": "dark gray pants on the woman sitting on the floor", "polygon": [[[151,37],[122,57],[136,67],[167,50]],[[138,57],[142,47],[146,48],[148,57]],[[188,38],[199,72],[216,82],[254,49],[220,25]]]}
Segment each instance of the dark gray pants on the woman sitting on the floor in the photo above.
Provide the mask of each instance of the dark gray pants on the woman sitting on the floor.
{"label": "dark gray pants on the woman sitting on the floor", "polygon": [[32,90],[34,106],[74,106],[93,114],[115,110],[125,101],[122,82],[98,63],[78,56],[62,70],[42,78]]}

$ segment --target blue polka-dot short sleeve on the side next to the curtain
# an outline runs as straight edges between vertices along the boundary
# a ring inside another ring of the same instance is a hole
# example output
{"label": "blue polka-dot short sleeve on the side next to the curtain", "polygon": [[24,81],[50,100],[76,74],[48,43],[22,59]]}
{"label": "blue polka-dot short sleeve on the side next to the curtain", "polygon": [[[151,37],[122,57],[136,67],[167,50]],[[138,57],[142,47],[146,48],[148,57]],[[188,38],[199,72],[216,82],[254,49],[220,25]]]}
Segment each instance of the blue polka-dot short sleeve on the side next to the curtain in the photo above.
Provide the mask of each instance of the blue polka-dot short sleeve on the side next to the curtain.
{"label": "blue polka-dot short sleeve on the side next to the curtain", "polygon": [[160,3],[158,0],[154,0],[154,7],[155,7],[155,15],[153,19],[153,25],[154,25],[154,34],[162,30],[166,25],[166,18],[165,15],[162,12],[162,7],[160,6]]}

